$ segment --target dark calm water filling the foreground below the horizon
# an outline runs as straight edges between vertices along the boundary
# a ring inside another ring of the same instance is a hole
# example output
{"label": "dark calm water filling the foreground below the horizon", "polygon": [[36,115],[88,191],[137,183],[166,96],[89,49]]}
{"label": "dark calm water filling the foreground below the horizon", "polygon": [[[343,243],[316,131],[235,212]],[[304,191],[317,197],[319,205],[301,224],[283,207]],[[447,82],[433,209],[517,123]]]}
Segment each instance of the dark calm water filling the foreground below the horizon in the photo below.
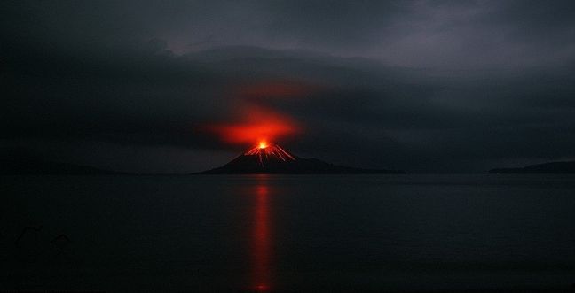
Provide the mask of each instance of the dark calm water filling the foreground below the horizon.
{"label": "dark calm water filling the foreground below the horizon", "polygon": [[0,180],[0,290],[426,291],[575,283],[574,176]]}

